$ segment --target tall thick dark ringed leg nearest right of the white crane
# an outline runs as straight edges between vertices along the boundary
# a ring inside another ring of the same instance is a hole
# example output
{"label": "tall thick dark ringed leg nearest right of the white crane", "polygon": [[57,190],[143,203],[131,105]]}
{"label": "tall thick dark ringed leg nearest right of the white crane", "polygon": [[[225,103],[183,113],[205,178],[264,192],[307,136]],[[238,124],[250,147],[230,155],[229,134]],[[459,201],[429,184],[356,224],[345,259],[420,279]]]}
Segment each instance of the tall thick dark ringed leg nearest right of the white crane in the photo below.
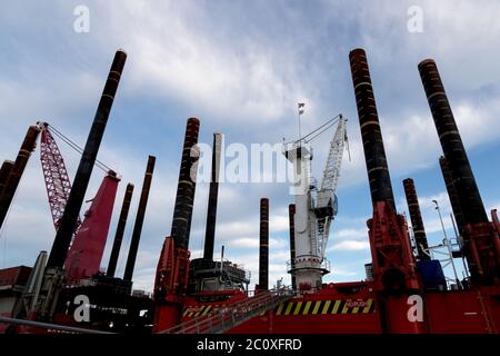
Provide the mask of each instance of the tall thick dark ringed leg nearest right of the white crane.
{"label": "tall thick dark ringed leg nearest right of the white crane", "polygon": [[364,50],[360,48],[352,50],[349,53],[349,61],[351,65],[359,123],[361,126],[371,200],[373,205],[377,201],[387,201],[389,207],[396,211],[391,178]]}

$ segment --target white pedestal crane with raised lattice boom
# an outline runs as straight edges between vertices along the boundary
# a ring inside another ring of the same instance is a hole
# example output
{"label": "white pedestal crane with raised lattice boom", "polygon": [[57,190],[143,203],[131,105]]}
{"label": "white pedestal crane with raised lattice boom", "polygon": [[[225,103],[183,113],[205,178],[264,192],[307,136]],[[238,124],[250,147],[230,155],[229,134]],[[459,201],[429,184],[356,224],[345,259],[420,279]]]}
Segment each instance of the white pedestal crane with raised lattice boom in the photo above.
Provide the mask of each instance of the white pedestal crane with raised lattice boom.
{"label": "white pedestal crane with raised lattice boom", "polygon": [[[337,123],[330,141],[320,188],[310,174],[312,149],[310,142]],[[297,286],[302,291],[314,291],[321,287],[322,276],[330,271],[330,263],[324,257],[331,221],[338,211],[337,185],[346,145],[349,148],[347,119],[338,115],[299,140],[286,144],[284,156],[294,169],[296,196],[296,258],[288,271],[296,276]]]}

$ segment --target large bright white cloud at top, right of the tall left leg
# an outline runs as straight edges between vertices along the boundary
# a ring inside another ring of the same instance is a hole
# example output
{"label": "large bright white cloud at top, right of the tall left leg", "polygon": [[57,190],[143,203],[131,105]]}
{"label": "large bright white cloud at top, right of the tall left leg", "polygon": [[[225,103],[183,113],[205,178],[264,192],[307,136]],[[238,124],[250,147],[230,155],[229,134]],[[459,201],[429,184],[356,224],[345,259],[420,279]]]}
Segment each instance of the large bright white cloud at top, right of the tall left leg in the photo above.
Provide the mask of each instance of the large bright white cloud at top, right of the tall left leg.
{"label": "large bright white cloud at top, right of the tall left leg", "polygon": [[303,92],[289,52],[280,53],[259,37],[238,40],[231,31],[221,32],[201,3],[126,1],[108,11],[110,33],[132,53],[132,90],[150,88],[188,107],[196,102],[197,111],[226,126],[249,118],[248,125],[277,121]]}

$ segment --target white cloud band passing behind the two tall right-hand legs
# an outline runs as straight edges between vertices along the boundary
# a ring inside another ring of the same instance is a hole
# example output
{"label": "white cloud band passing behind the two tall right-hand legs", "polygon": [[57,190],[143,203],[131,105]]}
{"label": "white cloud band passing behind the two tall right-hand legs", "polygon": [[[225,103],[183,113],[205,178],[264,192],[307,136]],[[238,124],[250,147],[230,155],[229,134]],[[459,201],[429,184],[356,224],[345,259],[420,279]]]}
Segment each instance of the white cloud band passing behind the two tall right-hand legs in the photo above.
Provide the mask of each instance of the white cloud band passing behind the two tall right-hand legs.
{"label": "white cloud band passing behind the two tall right-hand legs", "polygon": [[[480,103],[463,101],[457,105],[453,111],[466,150],[500,138],[499,130],[490,129],[500,116],[500,100],[486,100]],[[442,149],[430,112],[422,116],[411,115],[403,120],[386,116],[380,117],[380,121],[388,165],[393,178],[436,166],[438,157],[442,156]],[[350,147],[352,162],[344,157],[339,180],[341,188],[367,181],[362,144],[354,138],[351,139]]]}

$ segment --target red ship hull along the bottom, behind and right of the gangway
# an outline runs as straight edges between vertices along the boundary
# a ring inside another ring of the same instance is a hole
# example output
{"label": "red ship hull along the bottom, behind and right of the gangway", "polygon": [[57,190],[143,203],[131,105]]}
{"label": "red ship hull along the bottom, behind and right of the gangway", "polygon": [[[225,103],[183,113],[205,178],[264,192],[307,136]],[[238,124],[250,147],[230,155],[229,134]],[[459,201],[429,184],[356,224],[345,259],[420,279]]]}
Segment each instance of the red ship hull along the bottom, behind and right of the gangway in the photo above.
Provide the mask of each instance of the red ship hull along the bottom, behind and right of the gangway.
{"label": "red ship hull along the bottom, behind and right of the gangway", "polygon": [[[352,284],[354,285],[354,284]],[[402,333],[414,333],[406,318],[412,304],[408,296],[390,298],[390,314],[404,317],[382,320],[377,307],[377,295],[362,284],[362,290],[346,296],[334,288],[293,298],[252,319],[236,326],[228,334],[381,334],[383,324],[393,320]],[[430,334],[498,334],[500,333],[500,288],[428,293],[423,295],[423,322],[420,333]],[[232,300],[233,301],[233,300]],[[189,299],[183,309],[183,322],[209,316],[231,304],[197,303]],[[382,316],[383,317],[383,316]],[[400,322],[401,323],[401,322]]]}

